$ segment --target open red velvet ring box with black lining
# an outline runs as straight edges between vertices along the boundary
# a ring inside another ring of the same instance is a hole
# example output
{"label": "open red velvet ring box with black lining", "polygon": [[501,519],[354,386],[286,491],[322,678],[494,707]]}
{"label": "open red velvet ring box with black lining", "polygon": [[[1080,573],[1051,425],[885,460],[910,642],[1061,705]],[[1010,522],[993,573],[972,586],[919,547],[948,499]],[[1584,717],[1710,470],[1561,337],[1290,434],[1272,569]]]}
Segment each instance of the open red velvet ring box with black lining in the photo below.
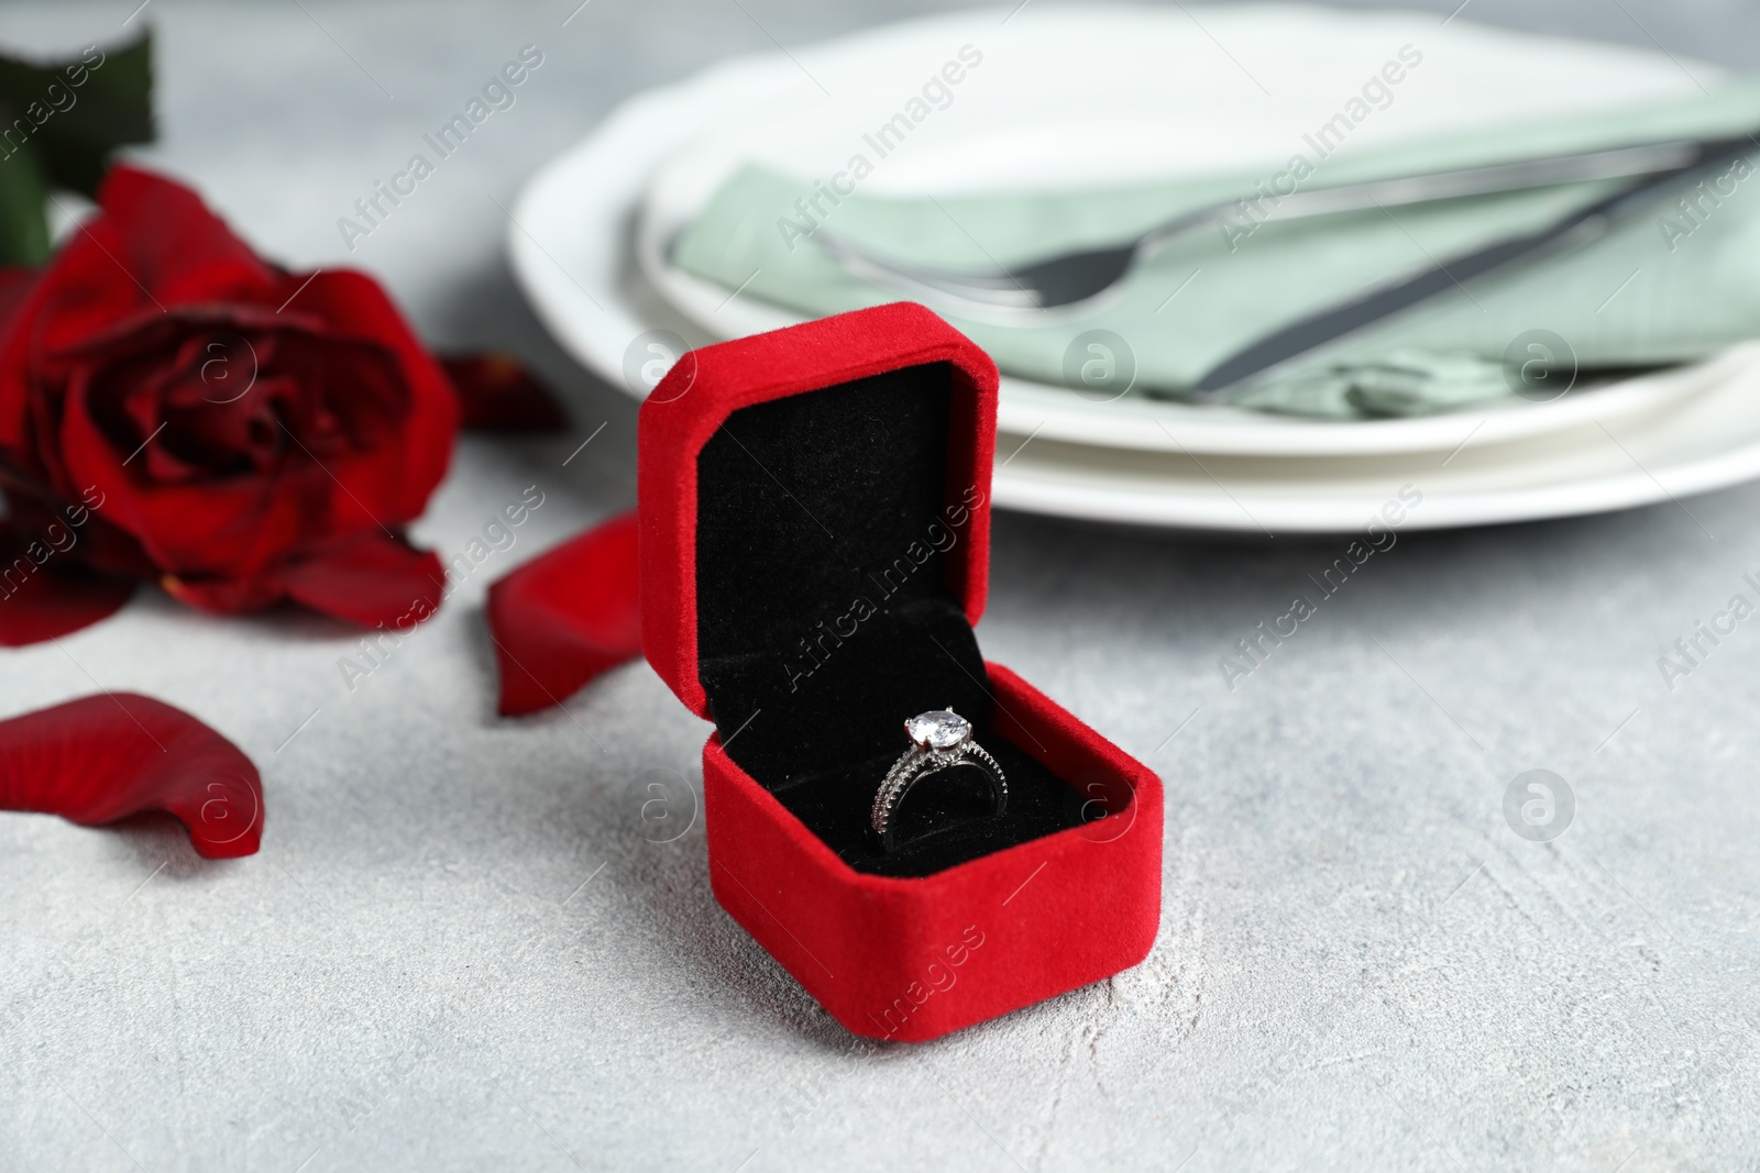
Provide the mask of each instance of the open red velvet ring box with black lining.
{"label": "open red velvet ring box with black lining", "polygon": [[[708,346],[641,412],[642,647],[692,712],[722,907],[855,1034],[933,1039],[1135,965],[1162,784],[987,663],[996,368],[892,304]],[[954,709],[1003,767],[869,807]],[[961,781],[964,779],[964,781]]]}

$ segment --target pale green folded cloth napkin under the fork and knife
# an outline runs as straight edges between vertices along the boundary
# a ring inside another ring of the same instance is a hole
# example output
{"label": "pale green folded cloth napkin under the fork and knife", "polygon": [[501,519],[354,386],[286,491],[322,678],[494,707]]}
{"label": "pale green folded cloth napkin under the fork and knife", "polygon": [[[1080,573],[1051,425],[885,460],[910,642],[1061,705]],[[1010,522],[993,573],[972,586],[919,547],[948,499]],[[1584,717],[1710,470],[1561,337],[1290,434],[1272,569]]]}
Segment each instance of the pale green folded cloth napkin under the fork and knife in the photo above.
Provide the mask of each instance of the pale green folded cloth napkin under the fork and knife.
{"label": "pale green folded cloth napkin under the fork and knife", "polygon": [[[679,236],[672,262],[730,290],[824,315],[898,301],[899,294],[845,273],[813,241],[820,227],[876,257],[984,269],[1126,241],[1183,211],[1255,190],[1288,192],[1292,183],[1309,190],[1753,128],[1760,128],[1760,79],[1668,106],[1536,120],[1373,151],[1322,157],[1324,144],[1292,134],[1292,157],[1258,174],[1116,190],[885,199],[862,193],[855,183],[854,193],[832,202],[820,193],[824,178],[746,165]],[[852,176],[864,174],[854,160],[852,167]],[[1512,394],[1505,353],[1529,331],[1563,338],[1586,375],[1695,361],[1760,336],[1756,169],[1753,158],[1716,167],[1695,178],[1702,183],[1670,188],[1653,209],[1621,220],[1589,246],[1475,278],[1285,368],[1236,403],[1336,419],[1424,415]],[[850,183],[838,179],[838,188]],[[1280,325],[1433,259],[1544,227],[1628,183],[1281,223],[1258,223],[1243,208],[1227,225],[1195,230],[1139,262],[1118,297],[1079,317],[1026,324],[949,317],[1003,371],[1060,385],[1068,382],[1072,343],[1088,331],[1111,331],[1135,361],[1132,394],[1177,399],[1218,361]]]}

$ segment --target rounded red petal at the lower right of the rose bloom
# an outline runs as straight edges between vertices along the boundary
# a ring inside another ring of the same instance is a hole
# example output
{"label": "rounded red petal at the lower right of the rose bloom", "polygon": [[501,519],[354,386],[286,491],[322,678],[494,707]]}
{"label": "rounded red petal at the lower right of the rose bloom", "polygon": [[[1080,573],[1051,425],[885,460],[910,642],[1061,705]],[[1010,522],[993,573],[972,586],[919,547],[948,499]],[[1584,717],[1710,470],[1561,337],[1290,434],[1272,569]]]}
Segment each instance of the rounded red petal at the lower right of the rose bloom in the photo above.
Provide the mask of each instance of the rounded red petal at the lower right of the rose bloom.
{"label": "rounded red petal at the lower right of the rose bloom", "polygon": [[327,547],[280,575],[287,598],[326,616],[408,631],[440,608],[445,570],[433,550],[364,535]]}

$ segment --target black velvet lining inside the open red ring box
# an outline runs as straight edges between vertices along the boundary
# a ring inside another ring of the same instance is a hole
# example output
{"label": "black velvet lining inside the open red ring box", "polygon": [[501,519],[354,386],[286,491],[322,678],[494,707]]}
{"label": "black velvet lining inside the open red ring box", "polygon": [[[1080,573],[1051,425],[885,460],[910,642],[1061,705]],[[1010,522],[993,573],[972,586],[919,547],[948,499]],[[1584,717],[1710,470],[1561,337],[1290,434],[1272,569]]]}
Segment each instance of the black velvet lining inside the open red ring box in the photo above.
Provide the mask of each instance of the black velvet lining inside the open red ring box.
{"label": "black velvet lining inside the open red ring box", "polygon": [[[1081,821],[1075,793],[991,721],[945,582],[973,494],[950,485],[952,368],[906,368],[736,412],[697,461],[699,674],[729,756],[850,867],[928,876]],[[903,723],[954,709],[1008,777],[919,784],[880,851],[875,790]]]}

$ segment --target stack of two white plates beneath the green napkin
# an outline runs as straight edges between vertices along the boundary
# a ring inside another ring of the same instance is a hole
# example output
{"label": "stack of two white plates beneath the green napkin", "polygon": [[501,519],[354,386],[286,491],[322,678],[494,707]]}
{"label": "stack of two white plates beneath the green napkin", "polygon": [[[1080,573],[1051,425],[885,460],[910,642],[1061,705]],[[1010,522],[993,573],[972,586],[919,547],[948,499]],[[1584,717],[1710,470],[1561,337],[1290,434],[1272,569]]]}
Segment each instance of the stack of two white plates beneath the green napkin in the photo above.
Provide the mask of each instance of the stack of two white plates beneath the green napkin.
{"label": "stack of two white plates beneath the green napkin", "polygon": [[[1535,114],[1686,97],[1676,58],[1415,14],[1290,5],[961,12],[727,62],[620,106],[514,209],[514,271],[581,362],[630,394],[679,339],[801,315],[672,267],[667,244],[746,160],[840,171],[943,63],[982,55],[864,193],[1102,186],[1241,172],[1302,149],[1401,47],[1422,67],[1355,127],[1359,149]],[[1691,72],[1688,72],[1691,70]],[[1075,165],[1072,165],[1072,160]],[[1401,420],[1301,420],[1003,378],[996,503],[1264,533],[1357,529],[1403,487],[1406,526],[1628,508],[1760,475],[1760,346],[1551,403]]]}

